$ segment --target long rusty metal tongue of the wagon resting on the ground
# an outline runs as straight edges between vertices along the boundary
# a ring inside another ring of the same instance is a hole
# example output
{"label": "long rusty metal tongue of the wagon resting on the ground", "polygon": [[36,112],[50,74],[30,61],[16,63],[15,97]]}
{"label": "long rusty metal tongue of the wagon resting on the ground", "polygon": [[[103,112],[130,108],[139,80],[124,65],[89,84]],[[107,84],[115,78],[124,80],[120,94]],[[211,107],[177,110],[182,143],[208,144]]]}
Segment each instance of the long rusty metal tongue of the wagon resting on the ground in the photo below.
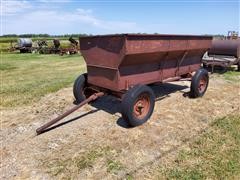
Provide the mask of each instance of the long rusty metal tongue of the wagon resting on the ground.
{"label": "long rusty metal tongue of the wagon resting on the ground", "polygon": [[63,119],[66,116],[68,116],[69,114],[73,113],[74,111],[76,111],[77,109],[82,107],[83,105],[85,105],[85,104],[87,104],[87,103],[89,103],[91,101],[94,101],[94,100],[96,100],[97,98],[99,98],[99,97],[101,97],[103,95],[104,95],[103,92],[98,92],[98,93],[95,93],[95,94],[91,95],[89,98],[87,98],[86,100],[84,100],[80,104],[74,106],[73,108],[69,109],[65,113],[61,114],[60,116],[56,117],[55,119],[53,119],[53,120],[49,121],[48,123],[44,124],[43,126],[39,127],[36,130],[37,134],[43,133],[48,127],[52,126],[53,124],[57,123],[61,119]]}

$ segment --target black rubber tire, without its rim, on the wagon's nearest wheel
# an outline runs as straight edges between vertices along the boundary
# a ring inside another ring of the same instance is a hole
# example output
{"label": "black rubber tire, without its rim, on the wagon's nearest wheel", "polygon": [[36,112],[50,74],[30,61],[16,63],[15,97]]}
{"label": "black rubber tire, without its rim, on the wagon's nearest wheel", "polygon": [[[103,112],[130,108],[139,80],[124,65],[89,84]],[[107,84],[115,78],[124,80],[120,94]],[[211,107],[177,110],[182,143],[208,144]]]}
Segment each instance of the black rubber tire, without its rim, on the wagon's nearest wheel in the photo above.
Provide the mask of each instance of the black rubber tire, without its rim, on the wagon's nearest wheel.
{"label": "black rubber tire, without its rim, on the wagon's nearest wheel", "polygon": [[[133,115],[133,106],[138,96],[142,93],[147,93],[150,99],[150,109],[147,115],[143,119],[137,119]],[[132,127],[139,126],[145,123],[152,115],[155,105],[155,95],[152,89],[145,85],[136,85],[129,89],[123,97],[122,100],[122,117],[128,122]]]}

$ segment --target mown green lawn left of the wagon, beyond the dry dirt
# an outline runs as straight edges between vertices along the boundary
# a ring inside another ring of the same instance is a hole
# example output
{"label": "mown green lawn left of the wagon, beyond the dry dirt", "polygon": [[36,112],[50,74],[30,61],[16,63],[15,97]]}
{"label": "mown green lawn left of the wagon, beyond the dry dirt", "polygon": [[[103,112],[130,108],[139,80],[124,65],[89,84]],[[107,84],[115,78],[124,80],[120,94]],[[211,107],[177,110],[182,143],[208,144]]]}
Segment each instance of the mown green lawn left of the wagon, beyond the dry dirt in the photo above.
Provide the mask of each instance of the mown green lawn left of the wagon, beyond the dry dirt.
{"label": "mown green lawn left of the wagon, beyond the dry dirt", "polygon": [[31,104],[42,96],[71,86],[85,71],[80,55],[1,54],[2,107]]}

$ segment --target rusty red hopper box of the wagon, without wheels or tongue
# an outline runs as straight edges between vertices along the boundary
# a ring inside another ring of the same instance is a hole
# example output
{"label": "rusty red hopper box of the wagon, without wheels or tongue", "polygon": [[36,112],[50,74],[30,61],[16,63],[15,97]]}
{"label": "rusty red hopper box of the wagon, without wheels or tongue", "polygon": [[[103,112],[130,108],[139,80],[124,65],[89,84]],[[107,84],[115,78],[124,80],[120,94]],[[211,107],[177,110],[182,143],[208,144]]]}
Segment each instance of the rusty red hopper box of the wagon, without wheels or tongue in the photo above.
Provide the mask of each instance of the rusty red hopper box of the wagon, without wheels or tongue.
{"label": "rusty red hopper box of the wagon, without wheels or tongue", "polygon": [[124,92],[136,84],[164,82],[198,70],[212,37],[120,34],[80,40],[88,84]]}

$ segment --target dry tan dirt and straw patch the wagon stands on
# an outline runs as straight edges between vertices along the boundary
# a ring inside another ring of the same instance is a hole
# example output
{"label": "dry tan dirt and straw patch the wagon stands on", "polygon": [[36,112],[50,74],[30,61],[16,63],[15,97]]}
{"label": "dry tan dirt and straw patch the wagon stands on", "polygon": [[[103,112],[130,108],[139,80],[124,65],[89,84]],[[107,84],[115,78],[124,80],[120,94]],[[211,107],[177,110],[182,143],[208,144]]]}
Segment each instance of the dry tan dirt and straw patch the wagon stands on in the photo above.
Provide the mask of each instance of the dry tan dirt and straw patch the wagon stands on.
{"label": "dry tan dirt and straw patch the wagon stands on", "polygon": [[146,177],[174,158],[218,117],[239,111],[239,84],[212,76],[203,98],[184,97],[189,82],[153,86],[157,96],[148,123],[129,128],[120,102],[103,97],[40,136],[35,129],[72,106],[72,88],[32,106],[1,109],[1,178]]}

